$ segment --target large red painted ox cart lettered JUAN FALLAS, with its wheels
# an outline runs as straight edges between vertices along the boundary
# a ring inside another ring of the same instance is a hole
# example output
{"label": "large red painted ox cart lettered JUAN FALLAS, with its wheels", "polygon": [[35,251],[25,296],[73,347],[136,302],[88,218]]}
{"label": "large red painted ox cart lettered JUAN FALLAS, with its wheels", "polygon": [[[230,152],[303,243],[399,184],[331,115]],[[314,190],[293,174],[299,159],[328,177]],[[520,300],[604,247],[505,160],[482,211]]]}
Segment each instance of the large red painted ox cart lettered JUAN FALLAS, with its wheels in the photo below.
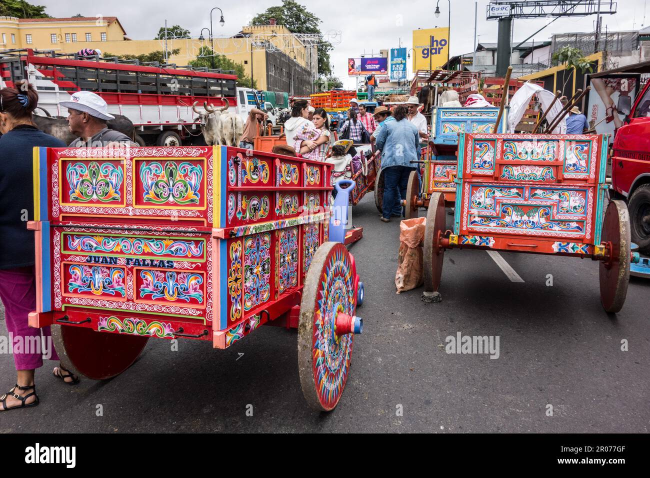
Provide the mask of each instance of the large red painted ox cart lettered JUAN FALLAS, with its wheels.
{"label": "large red painted ox cart lettered JUAN FALLAS, with its wheels", "polygon": [[149,338],[226,349],[298,328],[305,399],[333,409],[362,294],[328,242],[328,165],[226,146],[35,150],[37,310],[65,365],[118,375]]}

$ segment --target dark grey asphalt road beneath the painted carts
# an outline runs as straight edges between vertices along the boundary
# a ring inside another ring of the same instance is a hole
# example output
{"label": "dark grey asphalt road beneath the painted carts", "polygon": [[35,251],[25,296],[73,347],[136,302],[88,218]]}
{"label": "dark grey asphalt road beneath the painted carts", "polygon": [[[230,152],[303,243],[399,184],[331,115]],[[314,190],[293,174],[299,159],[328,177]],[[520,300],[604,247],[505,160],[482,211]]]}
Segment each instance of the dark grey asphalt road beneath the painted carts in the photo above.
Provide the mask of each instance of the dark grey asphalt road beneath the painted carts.
{"label": "dark grey asphalt road beneath the painted carts", "polygon": [[[421,288],[395,293],[398,220],[380,222],[370,194],[354,223],[364,228],[351,248],[365,282],[364,327],[330,414],[304,401],[295,330],[267,326],[226,351],[179,341],[172,352],[151,339],[106,382],[65,386],[46,362],[36,373],[41,404],[0,414],[0,432],[649,431],[650,282],[633,278],[610,317],[591,260],[502,253],[523,280],[512,282],[486,252],[453,250],[443,301],[425,304]],[[499,358],[447,354],[445,338],[458,332],[499,336]],[[12,356],[0,354],[0,371],[4,392]]]}

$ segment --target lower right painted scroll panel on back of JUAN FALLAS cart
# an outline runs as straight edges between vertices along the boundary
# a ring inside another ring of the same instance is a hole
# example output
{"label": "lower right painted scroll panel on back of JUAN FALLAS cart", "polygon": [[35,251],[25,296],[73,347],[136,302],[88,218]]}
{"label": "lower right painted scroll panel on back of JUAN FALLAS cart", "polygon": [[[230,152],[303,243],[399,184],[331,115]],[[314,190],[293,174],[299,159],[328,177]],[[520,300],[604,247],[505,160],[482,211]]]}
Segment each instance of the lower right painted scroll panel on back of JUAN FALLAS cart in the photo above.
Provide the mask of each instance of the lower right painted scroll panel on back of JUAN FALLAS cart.
{"label": "lower right painted scroll panel on back of JUAN FALLAS cart", "polygon": [[144,269],[140,271],[142,299],[165,299],[170,302],[194,300],[203,304],[203,276],[192,272],[159,271]]}

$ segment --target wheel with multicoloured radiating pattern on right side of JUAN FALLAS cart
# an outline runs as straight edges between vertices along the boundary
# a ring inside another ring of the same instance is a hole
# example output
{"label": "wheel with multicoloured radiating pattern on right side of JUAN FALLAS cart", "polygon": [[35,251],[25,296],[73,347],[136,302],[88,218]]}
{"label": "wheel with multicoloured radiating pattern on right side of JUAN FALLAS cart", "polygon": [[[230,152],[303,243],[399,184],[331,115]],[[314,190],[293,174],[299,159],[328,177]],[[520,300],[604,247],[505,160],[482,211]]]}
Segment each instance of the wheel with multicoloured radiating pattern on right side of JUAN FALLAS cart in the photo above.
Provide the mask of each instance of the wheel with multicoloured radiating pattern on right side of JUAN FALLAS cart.
{"label": "wheel with multicoloured radiating pattern on right side of JUAN FALLAS cart", "polygon": [[339,403],[350,371],[357,297],[350,254],[341,243],[318,248],[307,271],[298,323],[298,368],[309,406],[329,411]]}

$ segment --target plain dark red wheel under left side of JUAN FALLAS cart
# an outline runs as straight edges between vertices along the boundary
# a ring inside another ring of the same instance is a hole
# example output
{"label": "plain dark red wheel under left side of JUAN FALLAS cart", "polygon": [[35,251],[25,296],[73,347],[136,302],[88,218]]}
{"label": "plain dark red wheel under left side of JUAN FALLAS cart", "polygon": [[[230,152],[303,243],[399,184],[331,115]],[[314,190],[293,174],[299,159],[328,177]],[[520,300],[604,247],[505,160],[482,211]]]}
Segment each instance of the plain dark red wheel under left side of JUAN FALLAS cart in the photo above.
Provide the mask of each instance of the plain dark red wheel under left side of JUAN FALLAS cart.
{"label": "plain dark red wheel under left side of JUAN FALLAS cart", "polygon": [[52,339],[64,368],[94,380],[105,380],[133,365],[149,338],[53,325]]}

